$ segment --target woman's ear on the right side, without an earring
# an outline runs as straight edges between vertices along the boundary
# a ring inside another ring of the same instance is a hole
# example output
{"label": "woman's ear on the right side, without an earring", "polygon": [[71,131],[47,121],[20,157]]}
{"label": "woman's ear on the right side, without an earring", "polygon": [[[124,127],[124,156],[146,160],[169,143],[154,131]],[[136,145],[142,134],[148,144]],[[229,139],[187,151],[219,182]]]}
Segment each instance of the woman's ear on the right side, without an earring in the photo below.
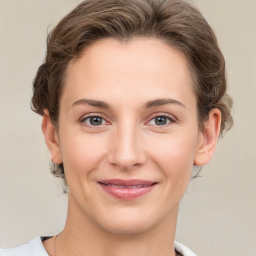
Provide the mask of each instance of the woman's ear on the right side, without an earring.
{"label": "woman's ear on the right side, without an earring", "polygon": [[209,118],[204,123],[204,129],[199,131],[197,150],[194,155],[194,165],[202,166],[213,157],[221,123],[221,112],[213,108],[209,112]]}

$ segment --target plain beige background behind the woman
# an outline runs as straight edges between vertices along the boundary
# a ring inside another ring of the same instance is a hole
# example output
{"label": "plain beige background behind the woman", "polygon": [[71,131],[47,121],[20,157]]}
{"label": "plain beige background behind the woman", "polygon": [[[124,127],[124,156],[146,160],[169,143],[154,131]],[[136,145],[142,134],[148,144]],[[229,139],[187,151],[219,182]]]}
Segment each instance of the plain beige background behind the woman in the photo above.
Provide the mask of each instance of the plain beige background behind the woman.
{"label": "plain beige background behind the woman", "polygon": [[[79,0],[0,0],[0,247],[59,232],[61,183],[49,173],[40,117],[29,110],[46,29]],[[234,127],[192,181],[176,239],[198,255],[256,256],[256,0],[194,0],[227,62]],[[51,27],[52,27],[51,25]]]}

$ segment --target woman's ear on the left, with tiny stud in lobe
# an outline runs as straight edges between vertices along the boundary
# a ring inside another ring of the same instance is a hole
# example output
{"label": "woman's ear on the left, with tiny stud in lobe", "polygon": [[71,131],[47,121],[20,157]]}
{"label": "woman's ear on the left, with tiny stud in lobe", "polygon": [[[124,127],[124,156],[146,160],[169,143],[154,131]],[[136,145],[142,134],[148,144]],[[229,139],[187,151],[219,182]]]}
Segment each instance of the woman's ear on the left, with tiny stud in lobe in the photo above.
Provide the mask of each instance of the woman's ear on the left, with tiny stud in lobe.
{"label": "woman's ear on the left, with tiny stud in lobe", "polygon": [[50,151],[51,161],[54,163],[62,163],[62,157],[58,142],[58,135],[55,126],[51,123],[49,111],[44,109],[42,116],[42,132],[45,138],[46,145]]}

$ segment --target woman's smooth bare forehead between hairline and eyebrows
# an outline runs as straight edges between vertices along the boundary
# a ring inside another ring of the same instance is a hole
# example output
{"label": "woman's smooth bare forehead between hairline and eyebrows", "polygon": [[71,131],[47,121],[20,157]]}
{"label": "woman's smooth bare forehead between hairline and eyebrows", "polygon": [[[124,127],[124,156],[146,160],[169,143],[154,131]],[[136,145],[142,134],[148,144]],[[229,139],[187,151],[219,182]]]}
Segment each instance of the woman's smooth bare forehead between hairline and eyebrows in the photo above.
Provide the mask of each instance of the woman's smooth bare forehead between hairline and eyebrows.
{"label": "woman's smooth bare forehead between hairline and eyebrows", "polygon": [[61,100],[71,103],[82,95],[106,100],[109,95],[122,98],[133,92],[134,99],[166,94],[186,101],[191,97],[184,93],[187,91],[192,93],[190,75],[186,59],[178,50],[158,39],[128,43],[103,39],[69,63]]}

